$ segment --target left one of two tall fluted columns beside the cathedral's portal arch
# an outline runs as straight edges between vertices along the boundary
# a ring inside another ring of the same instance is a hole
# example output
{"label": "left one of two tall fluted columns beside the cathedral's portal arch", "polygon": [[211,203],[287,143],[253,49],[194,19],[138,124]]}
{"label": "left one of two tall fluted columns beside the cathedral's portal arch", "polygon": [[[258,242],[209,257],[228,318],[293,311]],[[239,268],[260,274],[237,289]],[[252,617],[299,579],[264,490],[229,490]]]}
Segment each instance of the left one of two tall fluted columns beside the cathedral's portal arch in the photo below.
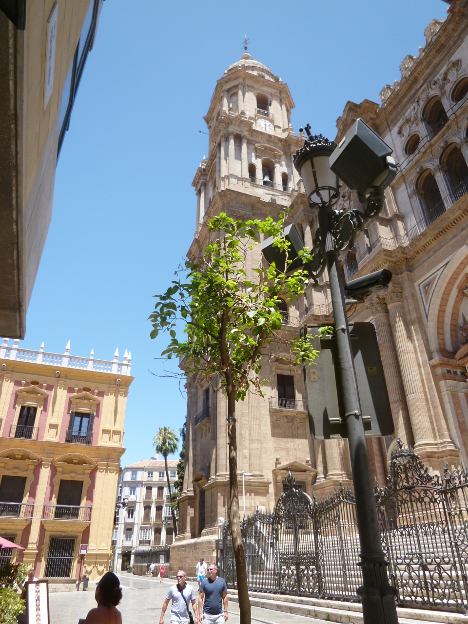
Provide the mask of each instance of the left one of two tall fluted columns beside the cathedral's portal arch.
{"label": "left one of two tall fluted columns beside the cathedral's portal arch", "polygon": [[411,421],[409,419],[395,344],[393,342],[388,308],[385,300],[378,295],[374,296],[369,301],[368,308],[372,312],[375,321],[377,341],[379,343],[379,351],[382,358],[385,381],[387,383],[395,434],[397,437],[401,438],[404,444],[411,444],[412,446],[412,444],[414,444],[414,439],[412,436]]}

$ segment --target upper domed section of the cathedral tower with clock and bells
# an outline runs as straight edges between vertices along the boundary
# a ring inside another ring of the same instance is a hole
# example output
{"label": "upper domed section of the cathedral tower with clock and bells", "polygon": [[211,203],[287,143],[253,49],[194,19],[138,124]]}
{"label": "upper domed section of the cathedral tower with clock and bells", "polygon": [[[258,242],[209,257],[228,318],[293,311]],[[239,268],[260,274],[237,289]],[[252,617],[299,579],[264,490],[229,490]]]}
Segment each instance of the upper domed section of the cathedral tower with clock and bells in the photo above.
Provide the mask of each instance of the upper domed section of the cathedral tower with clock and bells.
{"label": "upper domed section of the cathedral tower with clock and bells", "polygon": [[205,122],[208,158],[193,180],[197,233],[217,192],[235,190],[289,205],[300,178],[292,155],[302,141],[291,127],[294,107],[288,86],[245,52],[218,80]]}

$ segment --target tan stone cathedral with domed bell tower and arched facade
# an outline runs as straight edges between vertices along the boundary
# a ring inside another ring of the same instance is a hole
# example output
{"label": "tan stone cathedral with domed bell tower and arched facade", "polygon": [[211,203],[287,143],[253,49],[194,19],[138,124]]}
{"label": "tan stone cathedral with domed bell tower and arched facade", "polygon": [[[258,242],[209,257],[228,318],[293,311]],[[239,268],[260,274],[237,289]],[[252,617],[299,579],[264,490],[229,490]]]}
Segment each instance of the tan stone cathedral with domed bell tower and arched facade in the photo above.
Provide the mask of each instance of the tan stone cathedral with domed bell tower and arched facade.
{"label": "tan stone cathedral with domed bell tower and arched facade", "polygon": [[[449,6],[432,21],[418,56],[401,63],[401,80],[381,91],[381,104],[348,102],[336,141],[361,117],[391,145],[400,172],[386,190],[381,215],[342,256],[346,280],[389,268],[388,291],[350,309],[349,322],[371,321],[388,385],[395,436],[369,438],[379,484],[397,437],[416,449],[432,471],[468,466],[468,7]],[[316,211],[307,203],[292,156],[303,137],[291,126],[294,107],[283,81],[250,54],[218,80],[205,122],[208,157],[193,180],[197,229],[190,257],[207,243],[206,222],[277,217],[285,207],[311,247]],[[307,120],[304,120],[306,122]],[[313,132],[319,132],[317,123]],[[341,188],[339,206],[359,207]],[[260,258],[253,250],[252,266]],[[328,276],[284,306],[281,338],[301,324],[332,322]],[[265,399],[248,394],[237,404],[240,509],[272,509],[291,469],[308,494],[328,495],[351,484],[346,441],[310,434],[301,368],[278,361],[280,344],[262,360]],[[179,534],[171,562],[215,555],[220,517],[228,513],[226,401],[202,377],[187,381],[187,438]],[[190,568],[189,568],[190,569]]]}

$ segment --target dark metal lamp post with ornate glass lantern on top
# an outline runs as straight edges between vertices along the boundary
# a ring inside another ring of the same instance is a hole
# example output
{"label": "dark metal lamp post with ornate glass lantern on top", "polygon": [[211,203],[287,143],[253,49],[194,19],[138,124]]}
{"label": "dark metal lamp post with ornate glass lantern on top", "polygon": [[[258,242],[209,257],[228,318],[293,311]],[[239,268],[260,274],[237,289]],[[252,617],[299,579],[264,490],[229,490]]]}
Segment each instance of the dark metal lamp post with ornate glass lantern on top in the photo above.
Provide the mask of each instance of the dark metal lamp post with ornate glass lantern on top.
{"label": "dark metal lamp post with ornate glass lantern on top", "polygon": [[[310,132],[308,133],[310,135]],[[328,139],[309,136],[309,142],[296,154],[295,165],[301,173],[306,157],[310,158],[310,180],[313,187],[308,192],[305,180],[306,193],[313,207],[318,208],[319,231],[313,243],[313,268],[311,276],[323,273],[328,269],[331,302],[334,316],[334,333],[338,348],[339,371],[343,389],[344,413],[348,430],[349,455],[353,473],[354,495],[356,499],[356,515],[358,519],[359,544],[361,547],[359,563],[363,573],[363,585],[358,588],[358,594],[363,603],[364,624],[396,624],[398,622],[394,597],[396,589],[389,584],[387,563],[384,557],[379,523],[374,498],[374,489],[369,465],[369,456],[364,433],[361,405],[359,402],[358,383],[354,370],[353,352],[349,338],[348,319],[344,301],[344,288],[339,270],[339,251],[346,248],[354,240],[354,232],[363,226],[368,218],[378,214],[383,205],[383,192],[376,190],[371,193],[366,211],[333,210],[332,205],[338,200],[338,179],[335,188],[329,183],[321,185],[319,181],[320,169],[324,168],[324,161],[320,165],[319,157],[326,155],[327,162],[334,144]],[[309,154],[305,154],[305,152]],[[301,152],[301,154],[300,154]],[[314,162],[315,160],[315,162]],[[305,172],[306,174],[307,172]],[[333,179],[333,178],[332,178]],[[359,213],[358,213],[359,212]],[[356,214],[358,213],[358,214]],[[314,275],[315,274],[315,275]]]}

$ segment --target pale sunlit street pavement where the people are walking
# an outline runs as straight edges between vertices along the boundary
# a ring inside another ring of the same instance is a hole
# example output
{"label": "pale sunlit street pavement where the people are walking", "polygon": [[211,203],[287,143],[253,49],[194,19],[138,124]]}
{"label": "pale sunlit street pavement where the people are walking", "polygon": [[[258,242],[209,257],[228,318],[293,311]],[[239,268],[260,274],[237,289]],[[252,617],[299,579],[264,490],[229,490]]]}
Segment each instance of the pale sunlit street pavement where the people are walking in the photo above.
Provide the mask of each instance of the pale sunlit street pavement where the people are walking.
{"label": "pale sunlit street pavement where the people are walking", "polygon": [[[135,577],[122,572],[119,576],[122,585],[123,624],[155,624],[159,622],[161,607],[168,587],[173,580],[159,582],[158,578]],[[197,583],[191,583],[197,593]],[[49,595],[51,624],[78,624],[79,618],[85,618],[87,612],[96,606],[94,590],[89,592],[59,592]],[[239,624],[239,607],[236,603],[228,603],[228,624]],[[170,611],[166,612],[164,621],[169,624]],[[324,620],[291,615],[280,611],[271,611],[260,607],[252,607],[252,621],[263,624],[320,624]]]}

